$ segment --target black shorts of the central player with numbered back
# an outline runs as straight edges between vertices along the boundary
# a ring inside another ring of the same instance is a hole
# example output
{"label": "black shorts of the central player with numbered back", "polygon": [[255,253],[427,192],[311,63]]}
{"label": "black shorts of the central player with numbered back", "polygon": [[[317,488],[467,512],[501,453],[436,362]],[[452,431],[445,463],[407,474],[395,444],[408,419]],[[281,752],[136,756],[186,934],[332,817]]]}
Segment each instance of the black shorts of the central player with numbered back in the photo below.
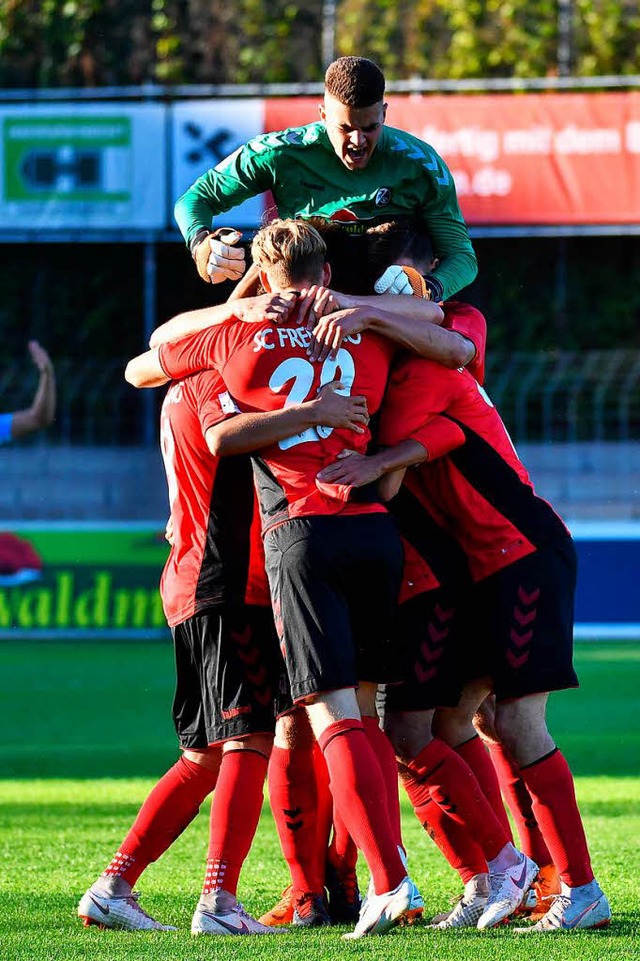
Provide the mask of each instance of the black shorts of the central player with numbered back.
{"label": "black shorts of the central player with numbered back", "polygon": [[265,554],[294,701],[399,678],[403,553],[388,514],[294,518],[266,534]]}

